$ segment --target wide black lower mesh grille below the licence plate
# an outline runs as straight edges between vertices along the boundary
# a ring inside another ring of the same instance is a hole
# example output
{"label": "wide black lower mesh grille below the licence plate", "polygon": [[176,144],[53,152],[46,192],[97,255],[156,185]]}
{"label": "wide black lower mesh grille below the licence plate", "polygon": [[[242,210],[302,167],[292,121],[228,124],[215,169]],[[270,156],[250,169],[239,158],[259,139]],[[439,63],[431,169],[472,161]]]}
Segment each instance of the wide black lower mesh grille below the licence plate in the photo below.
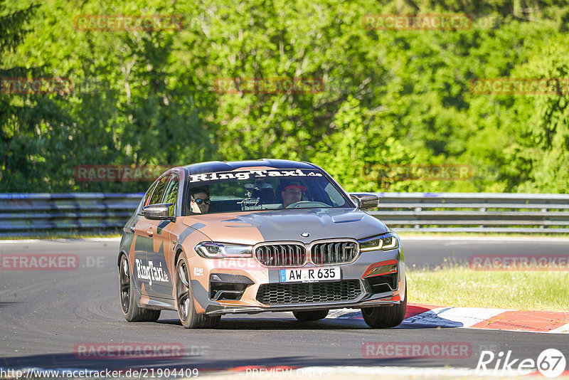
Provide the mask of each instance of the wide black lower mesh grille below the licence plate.
{"label": "wide black lower mesh grille below the licence plate", "polygon": [[328,283],[263,284],[257,292],[257,301],[265,305],[334,302],[356,300],[361,295],[359,280]]}

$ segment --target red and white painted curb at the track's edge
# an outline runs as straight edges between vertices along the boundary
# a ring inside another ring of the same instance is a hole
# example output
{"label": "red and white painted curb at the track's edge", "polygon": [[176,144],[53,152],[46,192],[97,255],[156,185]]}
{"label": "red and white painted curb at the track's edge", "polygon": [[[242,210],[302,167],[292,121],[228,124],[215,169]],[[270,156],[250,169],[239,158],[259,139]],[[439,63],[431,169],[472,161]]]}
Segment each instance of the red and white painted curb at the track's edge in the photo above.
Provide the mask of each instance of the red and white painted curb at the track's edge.
{"label": "red and white painted curb at the track's edge", "polygon": [[[361,320],[357,309],[331,310],[328,317]],[[568,333],[569,312],[531,312],[479,307],[440,307],[409,304],[399,328],[465,327],[516,332]]]}

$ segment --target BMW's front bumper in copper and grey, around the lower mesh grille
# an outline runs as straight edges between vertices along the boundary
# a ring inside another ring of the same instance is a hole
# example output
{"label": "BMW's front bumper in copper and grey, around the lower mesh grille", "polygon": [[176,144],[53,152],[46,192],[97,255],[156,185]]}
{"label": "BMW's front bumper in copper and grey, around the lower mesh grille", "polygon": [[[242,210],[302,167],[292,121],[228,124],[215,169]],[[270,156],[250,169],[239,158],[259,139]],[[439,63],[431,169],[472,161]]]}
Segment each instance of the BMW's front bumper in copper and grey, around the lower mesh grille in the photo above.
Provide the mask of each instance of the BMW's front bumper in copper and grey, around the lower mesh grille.
{"label": "BMW's front bumper in copper and grey, around the lower mesh grille", "polygon": [[[262,285],[267,287],[266,285],[269,284],[269,287],[274,288],[279,287],[277,284],[301,283],[280,283],[278,275],[280,268],[267,268],[260,265],[254,258],[211,260],[194,256],[191,260],[193,260],[191,266],[194,268],[196,266],[203,267],[203,270],[199,268],[196,272],[200,273],[200,276],[193,277],[191,275],[196,311],[200,314],[257,314],[260,312],[331,310],[344,307],[361,308],[397,305],[405,297],[405,262],[403,250],[400,246],[388,251],[362,252],[351,263],[308,264],[301,267],[307,269],[339,266],[342,273],[341,281],[351,284],[358,283],[359,292],[357,295],[353,295],[351,299],[326,302],[260,302],[258,294]],[[339,282],[314,283],[317,285],[302,283],[304,285],[297,287],[301,288],[302,295],[305,295],[307,292],[311,292],[313,287],[318,289],[333,287],[332,283],[337,285]],[[280,289],[282,290],[282,287]],[[324,292],[329,293],[329,290],[324,289]],[[294,299],[302,300],[302,297],[294,297]]]}

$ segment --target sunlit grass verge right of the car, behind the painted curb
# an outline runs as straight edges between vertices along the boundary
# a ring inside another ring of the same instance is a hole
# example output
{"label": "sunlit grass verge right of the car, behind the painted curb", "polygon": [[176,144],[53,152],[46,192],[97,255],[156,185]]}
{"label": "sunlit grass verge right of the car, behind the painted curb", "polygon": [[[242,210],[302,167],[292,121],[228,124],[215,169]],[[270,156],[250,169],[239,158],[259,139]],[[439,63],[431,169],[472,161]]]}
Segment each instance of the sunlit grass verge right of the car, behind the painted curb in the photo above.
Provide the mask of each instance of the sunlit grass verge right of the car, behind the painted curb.
{"label": "sunlit grass verge right of the car, behind the painted curb", "polygon": [[569,312],[569,271],[408,270],[409,302]]}

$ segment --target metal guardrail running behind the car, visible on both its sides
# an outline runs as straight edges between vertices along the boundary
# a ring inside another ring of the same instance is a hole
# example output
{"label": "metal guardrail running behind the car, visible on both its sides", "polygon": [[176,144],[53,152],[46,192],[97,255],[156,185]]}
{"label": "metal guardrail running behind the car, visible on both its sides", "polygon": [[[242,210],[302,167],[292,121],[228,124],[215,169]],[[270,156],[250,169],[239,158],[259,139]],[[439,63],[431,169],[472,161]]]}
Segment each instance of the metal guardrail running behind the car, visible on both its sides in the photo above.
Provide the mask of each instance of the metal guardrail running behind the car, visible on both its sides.
{"label": "metal guardrail running behind the car, visible on both its sides", "polygon": [[[376,193],[395,231],[569,233],[569,194]],[[118,231],[142,194],[0,194],[0,236]]]}

